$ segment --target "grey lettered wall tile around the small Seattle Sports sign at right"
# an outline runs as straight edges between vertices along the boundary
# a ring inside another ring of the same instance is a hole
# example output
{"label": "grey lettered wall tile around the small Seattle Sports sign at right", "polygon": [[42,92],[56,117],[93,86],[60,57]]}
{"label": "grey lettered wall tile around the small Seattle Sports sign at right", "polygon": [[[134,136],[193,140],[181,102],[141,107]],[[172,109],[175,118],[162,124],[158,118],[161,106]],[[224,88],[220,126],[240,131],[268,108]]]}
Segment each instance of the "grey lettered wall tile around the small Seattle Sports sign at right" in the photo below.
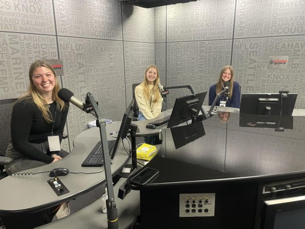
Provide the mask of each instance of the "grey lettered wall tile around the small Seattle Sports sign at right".
{"label": "grey lettered wall tile around the small Seattle Sports sign at right", "polygon": [[[305,37],[236,39],[232,65],[235,76],[248,93],[298,93],[295,108],[305,108]],[[288,56],[287,69],[268,69],[269,56]]]}

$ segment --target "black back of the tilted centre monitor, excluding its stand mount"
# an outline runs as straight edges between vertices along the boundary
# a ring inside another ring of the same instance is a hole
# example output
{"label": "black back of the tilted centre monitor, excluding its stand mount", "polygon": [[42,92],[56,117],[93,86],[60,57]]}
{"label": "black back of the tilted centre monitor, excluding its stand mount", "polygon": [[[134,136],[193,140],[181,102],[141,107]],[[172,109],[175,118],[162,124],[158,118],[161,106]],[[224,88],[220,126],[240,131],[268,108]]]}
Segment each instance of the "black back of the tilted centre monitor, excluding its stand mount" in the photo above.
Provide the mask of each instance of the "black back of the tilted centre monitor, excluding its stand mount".
{"label": "black back of the tilted centre monitor, excluding its stand mount", "polygon": [[188,109],[187,108],[188,101],[192,101],[195,99],[198,99],[197,111],[194,115],[195,118],[197,118],[206,94],[207,92],[202,92],[198,94],[191,94],[176,98],[170,119],[167,124],[167,128],[171,128],[179,125],[180,123],[184,123],[191,120],[191,117],[187,117],[187,118],[181,117],[181,113],[184,113],[185,110]]}

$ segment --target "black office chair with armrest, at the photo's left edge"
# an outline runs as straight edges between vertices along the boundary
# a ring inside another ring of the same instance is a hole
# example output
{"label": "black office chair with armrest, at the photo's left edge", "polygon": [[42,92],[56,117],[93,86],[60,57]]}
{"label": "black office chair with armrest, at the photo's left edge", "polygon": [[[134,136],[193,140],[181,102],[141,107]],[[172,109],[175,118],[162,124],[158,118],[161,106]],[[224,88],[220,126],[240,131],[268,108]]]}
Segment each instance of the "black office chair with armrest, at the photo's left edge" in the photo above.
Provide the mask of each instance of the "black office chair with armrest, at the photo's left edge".
{"label": "black office chair with armrest, at the photo's left edge", "polygon": [[16,100],[16,98],[0,100],[0,179],[7,176],[3,171],[4,165],[13,160],[6,157],[5,153],[11,141],[11,113]]}

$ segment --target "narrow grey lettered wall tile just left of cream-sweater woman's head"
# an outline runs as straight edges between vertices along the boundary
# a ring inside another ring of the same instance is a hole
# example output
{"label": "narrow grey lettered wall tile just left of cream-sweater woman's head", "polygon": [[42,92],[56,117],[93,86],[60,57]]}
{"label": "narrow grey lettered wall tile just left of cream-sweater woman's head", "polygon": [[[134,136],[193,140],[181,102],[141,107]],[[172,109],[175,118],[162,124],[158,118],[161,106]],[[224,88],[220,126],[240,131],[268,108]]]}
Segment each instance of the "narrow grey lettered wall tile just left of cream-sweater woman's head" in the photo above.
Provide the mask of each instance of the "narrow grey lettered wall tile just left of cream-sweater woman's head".
{"label": "narrow grey lettered wall tile just left of cream-sweater woman's head", "polygon": [[155,44],[124,42],[127,104],[132,99],[132,84],[140,83],[149,65],[155,65]]}

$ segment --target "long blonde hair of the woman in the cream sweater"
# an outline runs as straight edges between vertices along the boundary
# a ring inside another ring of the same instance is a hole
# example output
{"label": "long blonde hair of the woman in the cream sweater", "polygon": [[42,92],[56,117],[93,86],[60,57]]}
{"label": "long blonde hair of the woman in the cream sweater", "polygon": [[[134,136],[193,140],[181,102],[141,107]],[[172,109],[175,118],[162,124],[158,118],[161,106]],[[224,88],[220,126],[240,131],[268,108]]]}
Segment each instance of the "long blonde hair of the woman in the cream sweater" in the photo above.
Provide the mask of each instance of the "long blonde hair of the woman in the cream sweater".
{"label": "long blonde hair of the woman in the cream sweater", "polygon": [[[154,81],[154,88],[151,91],[148,88],[148,81],[147,81],[147,78],[146,78],[146,73],[150,68],[155,68],[157,70],[157,78]],[[152,96],[151,92],[153,92],[153,94],[155,95],[154,99],[152,101],[153,103],[159,102],[161,100],[161,95],[160,95],[160,92],[159,92],[158,83],[160,83],[159,69],[155,65],[149,65],[146,68],[146,71],[144,73],[144,80],[143,80],[142,84],[143,84],[143,89],[144,89],[144,96],[147,100],[151,99],[151,96]]]}

